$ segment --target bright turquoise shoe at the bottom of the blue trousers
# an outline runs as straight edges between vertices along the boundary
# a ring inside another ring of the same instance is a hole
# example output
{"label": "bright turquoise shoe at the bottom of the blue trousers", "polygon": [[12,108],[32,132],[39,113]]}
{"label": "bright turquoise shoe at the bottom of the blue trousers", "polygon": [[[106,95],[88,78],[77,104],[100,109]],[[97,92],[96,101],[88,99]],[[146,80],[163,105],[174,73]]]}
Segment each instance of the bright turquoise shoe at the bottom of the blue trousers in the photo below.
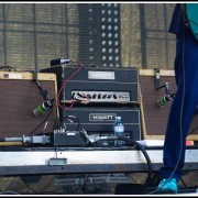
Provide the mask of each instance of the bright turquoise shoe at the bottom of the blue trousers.
{"label": "bright turquoise shoe at the bottom of the blue trousers", "polygon": [[177,194],[177,180],[175,178],[165,178],[158,184],[158,190],[161,191],[173,191]]}

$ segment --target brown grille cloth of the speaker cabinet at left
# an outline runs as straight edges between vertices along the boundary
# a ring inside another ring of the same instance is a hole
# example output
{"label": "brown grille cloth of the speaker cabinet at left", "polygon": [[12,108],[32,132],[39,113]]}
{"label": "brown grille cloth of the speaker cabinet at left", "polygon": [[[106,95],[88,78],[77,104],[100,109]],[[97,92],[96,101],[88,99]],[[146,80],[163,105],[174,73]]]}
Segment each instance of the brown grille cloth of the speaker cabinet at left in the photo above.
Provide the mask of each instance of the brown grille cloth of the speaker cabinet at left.
{"label": "brown grille cloth of the speaker cabinet at left", "polygon": [[[54,81],[38,80],[43,90],[54,98]],[[40,90],[33,80],[0,80],[0,138],[30,135],[30,133],[47,117],[48,112],[34,118],[33,110],[43,102]],[[56,109],[50,118],[55,118]],[[46,131],[52,132],[53,121],[48,122]],[[42,124],[33,134],[42,131]]]}

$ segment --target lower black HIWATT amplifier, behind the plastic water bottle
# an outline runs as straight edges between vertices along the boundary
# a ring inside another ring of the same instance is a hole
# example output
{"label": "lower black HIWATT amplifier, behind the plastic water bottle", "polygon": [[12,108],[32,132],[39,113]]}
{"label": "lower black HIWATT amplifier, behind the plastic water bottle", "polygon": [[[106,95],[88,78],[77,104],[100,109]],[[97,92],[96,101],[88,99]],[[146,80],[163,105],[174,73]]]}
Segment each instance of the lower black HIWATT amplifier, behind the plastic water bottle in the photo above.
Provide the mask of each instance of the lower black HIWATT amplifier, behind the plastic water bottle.
{"label": "lower black HIWATT amplifier, behind the plastic water bottle", "polygon": [[[68,116],[76,117],[79,122],[69,122]],[[117,116],[122,118],[125,135],[134,141],[141,140],[141,114],[139,108],[73,107],[67,111],[61,111],[61,119],[65,121],[66,130],[75,131],[80,125],[89,135],[113,135],[113,123]]]}

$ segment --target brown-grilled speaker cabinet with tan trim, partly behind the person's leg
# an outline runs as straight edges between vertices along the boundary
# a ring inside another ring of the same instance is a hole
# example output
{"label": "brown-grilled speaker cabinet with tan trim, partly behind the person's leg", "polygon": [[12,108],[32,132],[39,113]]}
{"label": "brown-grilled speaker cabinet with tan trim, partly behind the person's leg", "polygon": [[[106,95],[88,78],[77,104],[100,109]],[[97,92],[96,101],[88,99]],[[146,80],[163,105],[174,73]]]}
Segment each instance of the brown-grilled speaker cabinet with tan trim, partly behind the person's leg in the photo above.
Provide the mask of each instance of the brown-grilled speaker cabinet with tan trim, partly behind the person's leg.
{"label": "brown-grilled speaker cabinet with tan trim, partly behind the person's leg", "polygon": [[[157,75],[160,74],[160,76]],[[169,85],[170,94],[177,90],[174,70],[140,69],[140,94],[141,94],[141,118],[143,128],[143,139],[164,140],[168,114],[173,100],[163,107],[157,107],[156,101],[166,96],[163,87]],[[156,87],[163,87],[156,89]],[[191,122],[188,140],[198,140],[198,114],[195,114]],[[188,133],[189,133],[188,132]]]}

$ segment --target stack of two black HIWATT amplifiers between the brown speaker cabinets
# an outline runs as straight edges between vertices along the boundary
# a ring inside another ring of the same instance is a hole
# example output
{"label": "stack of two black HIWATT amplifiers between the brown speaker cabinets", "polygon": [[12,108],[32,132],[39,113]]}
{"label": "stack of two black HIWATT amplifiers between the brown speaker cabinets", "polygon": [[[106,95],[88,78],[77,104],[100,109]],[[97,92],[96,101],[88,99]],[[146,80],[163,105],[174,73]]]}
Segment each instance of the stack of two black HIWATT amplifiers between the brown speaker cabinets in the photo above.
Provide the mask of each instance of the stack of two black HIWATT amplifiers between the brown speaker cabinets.
{"label": "stack of two black HIWATT amplifiers between the brown speaker cabinets", "polygon": [[[75,116],[88,134],[112,135],[116,117],[121,116],[125,133],[134,141],[141,140],[138,68],[82,67],[76,73],[77,69],[75,65],[41,69],[57,76],[61,119]],[[73,127],[67,123],[67,129]]]}

